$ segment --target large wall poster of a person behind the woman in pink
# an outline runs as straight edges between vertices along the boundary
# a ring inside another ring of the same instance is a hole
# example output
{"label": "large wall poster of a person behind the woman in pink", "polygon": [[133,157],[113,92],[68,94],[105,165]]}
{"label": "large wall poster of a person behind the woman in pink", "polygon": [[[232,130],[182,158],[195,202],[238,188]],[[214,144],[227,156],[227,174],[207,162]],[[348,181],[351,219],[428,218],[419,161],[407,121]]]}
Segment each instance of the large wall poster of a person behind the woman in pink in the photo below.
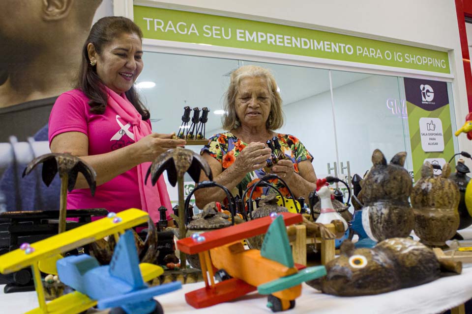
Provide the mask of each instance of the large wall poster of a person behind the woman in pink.
{"label": "large wall poster of a person behind the woman in pink", "polygon": [[59,209],[59,178],[47,187],[48,120],[56,98],[75,87],[92,23],[113,0],[2,0],[0,10],[0,211]]}

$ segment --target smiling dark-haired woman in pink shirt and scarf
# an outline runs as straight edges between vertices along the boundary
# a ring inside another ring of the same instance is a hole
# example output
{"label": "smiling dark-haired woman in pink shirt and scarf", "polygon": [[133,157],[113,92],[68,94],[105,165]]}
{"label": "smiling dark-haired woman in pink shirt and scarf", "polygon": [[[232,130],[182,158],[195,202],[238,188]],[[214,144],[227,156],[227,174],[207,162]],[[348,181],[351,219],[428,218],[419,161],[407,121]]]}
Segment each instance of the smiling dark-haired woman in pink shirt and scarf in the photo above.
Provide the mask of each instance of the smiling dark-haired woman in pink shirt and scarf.
{"label": "smiling dark-haired woman in pink shirt and scarf", "polygon": [[131,20],[106,17],[90,30],[82,50],[77,88],[59,96],[49,118],[51,151],[81,157],[97,173],[95,196],[80,175],[67,195],[68,209],[171,208],[162,178],[144,184],[150,161],[184,140],[151,131],[149,112],[134,88],[143,70],[143,33]]}

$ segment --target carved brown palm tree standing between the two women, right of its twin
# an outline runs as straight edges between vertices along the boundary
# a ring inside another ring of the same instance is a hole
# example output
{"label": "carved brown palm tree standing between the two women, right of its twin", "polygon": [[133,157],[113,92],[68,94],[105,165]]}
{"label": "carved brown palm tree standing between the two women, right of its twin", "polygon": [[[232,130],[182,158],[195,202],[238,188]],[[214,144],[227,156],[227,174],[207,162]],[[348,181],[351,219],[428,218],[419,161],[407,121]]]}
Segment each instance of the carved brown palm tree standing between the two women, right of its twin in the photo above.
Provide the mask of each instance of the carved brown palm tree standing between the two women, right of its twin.
{"label": "carved brown palm tree standing between the two women, right of its twin", "polygon": [[[183,176],[187,172],[195,183],[200,181],[200,173],[203,170],[209,180],[213,180],[210,166],[207,161],[195,152],[177,147],[170,149],[164,154],[157,157],[151,164],[146,174],[145,184],[148,182],[149,175],[151,176],[151,183],[155,185],[161,174],[167,170],[167,178],[172,186],[178,187],[178,234],[182,239],[186,234],[185,227],[185,207],[184,207],[184,193],[183,193]],[[180,265],[185,268],[185,254],[180,252]]]}

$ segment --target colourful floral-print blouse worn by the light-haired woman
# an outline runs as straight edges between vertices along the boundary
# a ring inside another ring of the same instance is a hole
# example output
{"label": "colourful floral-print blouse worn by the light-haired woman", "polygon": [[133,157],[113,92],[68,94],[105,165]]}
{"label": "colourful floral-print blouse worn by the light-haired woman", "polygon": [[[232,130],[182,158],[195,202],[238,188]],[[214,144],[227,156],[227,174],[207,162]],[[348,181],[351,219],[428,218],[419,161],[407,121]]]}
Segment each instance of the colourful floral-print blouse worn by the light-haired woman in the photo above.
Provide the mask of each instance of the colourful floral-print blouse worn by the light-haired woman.
{"label": "colourful floral-print blouse worn by the light-haired woman", "polygon": [[[313,156],[306,150],[305,146],[303,146],[303,144],[295,136],[277,133],[277,137],[282,152],[294,163],[295,173],[298,173],[299,162],[303,160],[313,160]],[[208,144],[202,148],[200,155],[203,155],[205,152],[207,152],[211,157],[215,158],[221,163],[224,171],[226,168],[231,166],[233,162],[235,162],[236,157],[247,145],[247,143],[241,141],[231,132],[219,133],[210,137]],[[264,168],[247,173],[244,179],[242,179],[242,181],[236,186],[238,189],[237,194],[244,193],[248,186],[255,183],[259,178],[262,178],[265,175],[266,171]],[[287,187],[285,187],[284,183],[279,182],[278,179],[271,180],[270,183],[279,189],[282,195],[290,195]],[[266,189],[268,189],[268,187],[263,188],[258,186],[253,192],[252,198],[255,199],[260,197],[266,192],[275,192],[273,189],[271,189],[272,191],[266,191]],[[248,191],[248,193],[250,192]],[[236,195],[235,193],[233,194]]]}

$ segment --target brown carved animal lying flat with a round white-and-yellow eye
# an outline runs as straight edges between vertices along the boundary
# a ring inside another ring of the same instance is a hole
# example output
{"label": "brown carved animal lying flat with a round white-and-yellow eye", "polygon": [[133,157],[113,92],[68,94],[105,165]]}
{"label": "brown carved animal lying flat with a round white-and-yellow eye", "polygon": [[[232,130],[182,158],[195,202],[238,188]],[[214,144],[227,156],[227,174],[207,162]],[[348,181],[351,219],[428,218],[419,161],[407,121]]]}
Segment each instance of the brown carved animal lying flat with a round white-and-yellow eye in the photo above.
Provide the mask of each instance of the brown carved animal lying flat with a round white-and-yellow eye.
{"label": "brown carved animal lying flat with a round white-and-yellow eye", "polygon": [[369,295],[422,285],[438,279],[441,271],[461,273],[462,264],[440,261],[433,250],[410,238],[359,249],[347,240],[341,255],[326,264],[326,276],[307,284],[328,294]]}

